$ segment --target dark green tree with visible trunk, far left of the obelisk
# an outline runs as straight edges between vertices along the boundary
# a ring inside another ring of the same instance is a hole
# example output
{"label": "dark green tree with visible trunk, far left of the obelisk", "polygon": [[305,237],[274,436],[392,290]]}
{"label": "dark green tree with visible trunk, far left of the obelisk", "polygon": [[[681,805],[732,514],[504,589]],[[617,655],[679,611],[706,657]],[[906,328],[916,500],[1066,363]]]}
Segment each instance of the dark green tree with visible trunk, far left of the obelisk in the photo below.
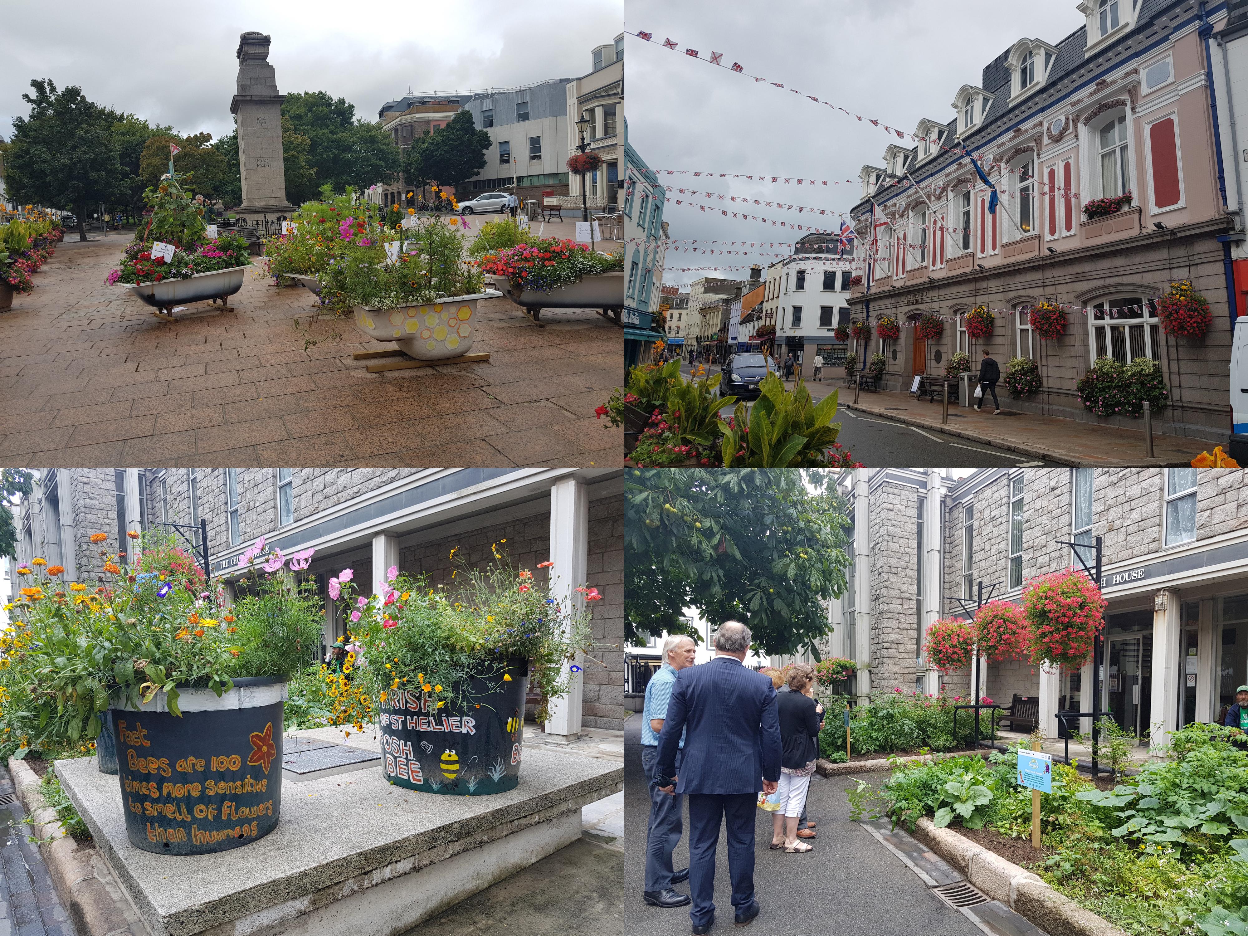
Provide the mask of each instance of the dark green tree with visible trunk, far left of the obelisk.
{"label": "dark green tree with visible trunk, far left of the obelisk", "polygon": [[30,86],[35,96],[21,96],[30,116],[12,121],[5,183],[19,202],[72,208],[85,241],[87,208],[126,191],[111,112],[77,85],[57,91],[51,79],[35,79]]}

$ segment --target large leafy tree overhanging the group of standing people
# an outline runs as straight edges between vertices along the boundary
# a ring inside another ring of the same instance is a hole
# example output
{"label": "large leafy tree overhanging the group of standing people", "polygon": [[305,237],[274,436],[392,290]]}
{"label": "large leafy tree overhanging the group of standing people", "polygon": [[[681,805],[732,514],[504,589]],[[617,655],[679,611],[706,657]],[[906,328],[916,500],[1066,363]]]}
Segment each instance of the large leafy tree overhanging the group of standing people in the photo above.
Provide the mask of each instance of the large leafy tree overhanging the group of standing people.
{"label": "large leafy tree overhanging the group of standing people", "polygon": [[684,608],[741,620],[764,653],[830,631],[824,602],[846,587],[844,497],[831,470],[631,469],[624,478],[629,638],[686,633]]}

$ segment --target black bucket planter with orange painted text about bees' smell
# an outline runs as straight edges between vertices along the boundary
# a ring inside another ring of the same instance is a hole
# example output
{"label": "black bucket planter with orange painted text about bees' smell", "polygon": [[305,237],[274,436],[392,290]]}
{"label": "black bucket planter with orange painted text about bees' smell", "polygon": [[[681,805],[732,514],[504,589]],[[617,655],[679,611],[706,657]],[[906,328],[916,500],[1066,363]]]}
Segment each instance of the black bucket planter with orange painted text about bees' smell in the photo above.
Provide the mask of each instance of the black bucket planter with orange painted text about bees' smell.
{"label": "black bucket planter with orange painted text about bees' smell", "polygon": [[282,805],[286,680],[236,679],[217,698],[182,689],[139,710],[114,706],[121,801],[130,844],[158,855],[206,855],[277,827]]}

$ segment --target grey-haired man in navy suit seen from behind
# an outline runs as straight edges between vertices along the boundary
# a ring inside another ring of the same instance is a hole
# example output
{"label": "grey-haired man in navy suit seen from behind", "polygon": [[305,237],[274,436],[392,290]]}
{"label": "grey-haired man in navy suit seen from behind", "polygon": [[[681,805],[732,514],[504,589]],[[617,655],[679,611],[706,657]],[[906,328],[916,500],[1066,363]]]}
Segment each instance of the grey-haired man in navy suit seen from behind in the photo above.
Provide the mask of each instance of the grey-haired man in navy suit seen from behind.
{"label": "grey-haired man in navy suit seen from behind", "polygon": [[[771,680],[746,669],[750,629],[726,622],[715,634],[715,658],[676,674],[659,733],[654,785],[689,801],[689,894],[694,934],[715,924],[715,849],[728,824],[728,869],[735,926],[759,915],[754,899],[754,811],[759,791],[780,779],[780,721]],[[688,729],[688,731],[686,731]],[[685,734],[680,776],[676,750]]]}

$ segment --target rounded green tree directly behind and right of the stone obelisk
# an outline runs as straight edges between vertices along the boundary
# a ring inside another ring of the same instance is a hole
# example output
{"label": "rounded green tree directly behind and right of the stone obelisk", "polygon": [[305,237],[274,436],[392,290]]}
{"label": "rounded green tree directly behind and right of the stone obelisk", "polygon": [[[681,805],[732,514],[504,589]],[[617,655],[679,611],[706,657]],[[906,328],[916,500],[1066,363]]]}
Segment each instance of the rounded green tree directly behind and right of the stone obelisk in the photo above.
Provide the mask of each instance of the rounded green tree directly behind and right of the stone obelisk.
{"label": "rounded green tree directly behind and right of the stone obelisk", "polygon": [[[396,177],[399,151],[394,141],[381,124],[358,120],[354,105],[344,97],[334,99],[326,91],[286,95],[282,101],[283,145],[287,120],[291,132],[307,139],[307,165],[316,167],[307,197],[326,183],[341,192],[348,185],[367,188]],[[287,198],[295,201],[290,188]]]}

